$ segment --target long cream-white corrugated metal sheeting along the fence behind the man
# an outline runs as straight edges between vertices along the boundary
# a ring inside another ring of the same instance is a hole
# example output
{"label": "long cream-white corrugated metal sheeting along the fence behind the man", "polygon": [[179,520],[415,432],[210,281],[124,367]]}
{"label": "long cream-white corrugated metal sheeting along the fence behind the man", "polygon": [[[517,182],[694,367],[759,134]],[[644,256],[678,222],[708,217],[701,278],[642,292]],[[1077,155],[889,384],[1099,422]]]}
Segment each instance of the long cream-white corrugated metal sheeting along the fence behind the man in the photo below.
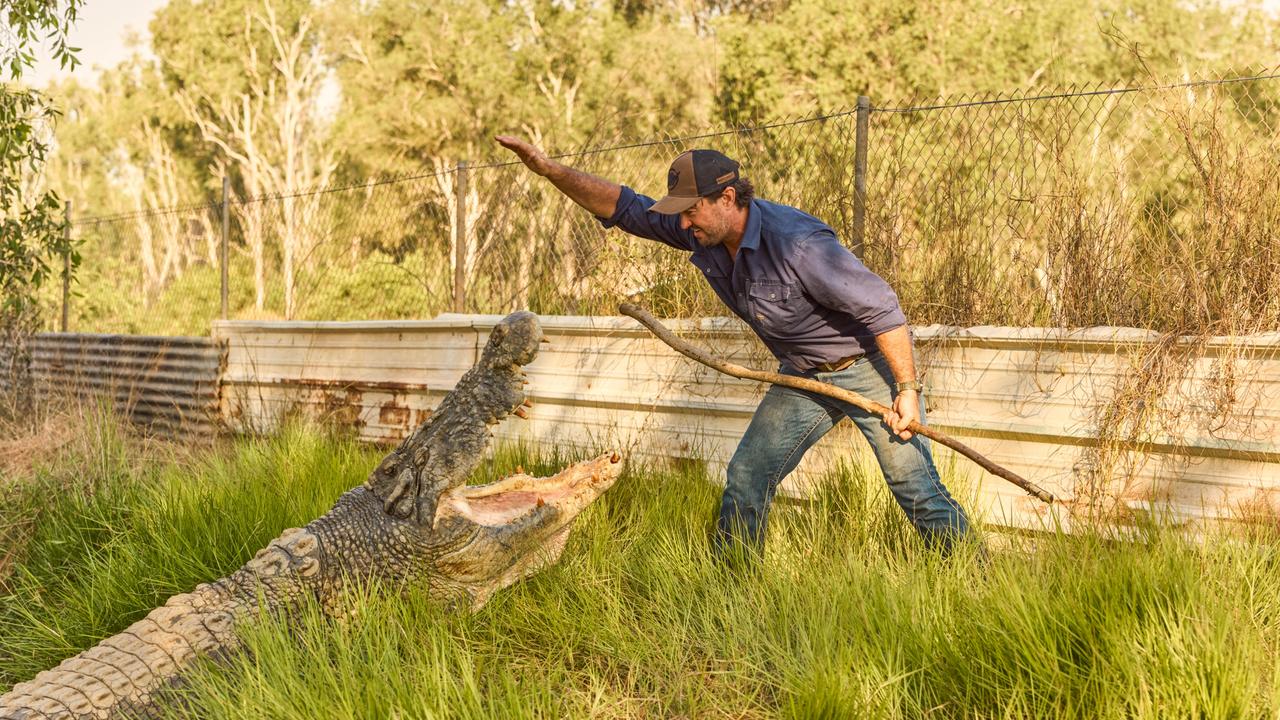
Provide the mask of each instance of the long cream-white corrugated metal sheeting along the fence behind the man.
{"label": "long cream-white corrugated metal sheeting along the fence behind the man", "polygon": [[[471,366],[498,320],[218,323],[215,334],[229,347],[223,411],[233,425],[257,429],[298,409],[335,414],[367,439],[394,442]],[[763,387],[677,355],[630,318],[541,322],[550,342],[527,368],[534,410],[529,420],[503,421],[499,437],[618,447],[632,461],[705,460],[712,477],[723,478]],[[731,361],[773,369],[735,322],[668,327]],[[1050,515],[1016,487],[938,450],[940,462],[963,477],[956,486],[969,484],[972,507],[989,523],[1069,523],[1070,501],[1085,495],[1096,477],[1091,468],[1098,466],[1125,468],[1129,479],[1112,480],[1107,491],[1167,520],[1276,510],[1280,337],[1215,340],[1172,354],[1184,366],[1171,368],[1144,365],[1170,355],[1153,354],[1157,338],[1143,331],[923,327],[915,336],[931,424],[1069,501]],[[1160,368],[1185,378],[1166,392],[1128,387]],[[1119,401],[1108,402],[1117,388]],[[1135,425],[1126,418],[1147,409],[1157,420],[1130,432]],[[1108,420],[1107,411],[1119,413]],[[1100,428],[1133,442],[1100,443]],[[865,462],[863,447],[842,423],[783,492],[804,495],[833,462]]]}

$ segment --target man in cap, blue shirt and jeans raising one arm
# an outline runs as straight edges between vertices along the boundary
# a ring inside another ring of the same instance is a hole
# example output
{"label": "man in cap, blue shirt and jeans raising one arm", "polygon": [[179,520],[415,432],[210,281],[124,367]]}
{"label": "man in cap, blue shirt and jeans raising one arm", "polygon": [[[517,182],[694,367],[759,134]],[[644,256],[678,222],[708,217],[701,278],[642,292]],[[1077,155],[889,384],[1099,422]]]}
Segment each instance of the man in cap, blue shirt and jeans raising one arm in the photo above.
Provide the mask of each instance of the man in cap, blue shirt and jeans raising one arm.
{"label": "man in cap, blue shirt and jeans raising one arm", "polygon": [[964,510],[938,477],[929,441],[906,429],[911,420],[923,421],[924,402],[897,296],[831,227],[756,199],[739,164],[714,150],[676,158],[667,196],[654,202],[557,163],[524,140],[497,141],[604,227],[692,252],[690,261],[777,356],[780,372],[891,407],[881,421],[824,396],[771,386],[728,464],[718,548],[732,539],[763,550],[778,483],[841,416],[870,442],[890,491],[929,547],[947,552],[969,533]]}

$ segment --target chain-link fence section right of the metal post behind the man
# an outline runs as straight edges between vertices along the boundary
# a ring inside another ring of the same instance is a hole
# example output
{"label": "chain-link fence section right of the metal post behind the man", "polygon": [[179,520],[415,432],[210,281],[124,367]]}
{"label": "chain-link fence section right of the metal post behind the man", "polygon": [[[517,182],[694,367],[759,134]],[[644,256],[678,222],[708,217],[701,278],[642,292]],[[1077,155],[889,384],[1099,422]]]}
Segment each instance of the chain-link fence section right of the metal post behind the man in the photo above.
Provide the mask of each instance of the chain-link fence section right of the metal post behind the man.
{"label": "chain-link fence section right of the metal post behind the man", "polygon": [[1249,79],[872,115],[868,263],[950,324],[1276,327],[1276,91]]}

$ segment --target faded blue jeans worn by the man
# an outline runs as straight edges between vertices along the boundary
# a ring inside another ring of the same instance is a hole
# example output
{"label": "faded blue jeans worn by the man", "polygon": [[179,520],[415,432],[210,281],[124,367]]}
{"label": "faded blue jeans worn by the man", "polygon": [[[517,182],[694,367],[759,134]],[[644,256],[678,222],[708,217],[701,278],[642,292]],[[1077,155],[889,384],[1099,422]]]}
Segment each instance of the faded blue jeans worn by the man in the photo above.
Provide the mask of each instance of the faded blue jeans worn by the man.
{"label": "faded blue jeans worn by the man", "polygon": [[[835,373],[787,372],[854,391],[892,406],[893,375],[883,356],[873,354]],[[772,386],[756,407],[733,457],[717,521],[717,548],[728,541],[763,550],[769,502],[778,484],[831,428],[847,416],[870,442],[890,492],[931,548],[947,552],[969,533],[969,519],[938,477],[929,441],[918,434],[902,441],[869,413],[838,400],[783,386]],[[924,421],[924,398],[920,398]]]}

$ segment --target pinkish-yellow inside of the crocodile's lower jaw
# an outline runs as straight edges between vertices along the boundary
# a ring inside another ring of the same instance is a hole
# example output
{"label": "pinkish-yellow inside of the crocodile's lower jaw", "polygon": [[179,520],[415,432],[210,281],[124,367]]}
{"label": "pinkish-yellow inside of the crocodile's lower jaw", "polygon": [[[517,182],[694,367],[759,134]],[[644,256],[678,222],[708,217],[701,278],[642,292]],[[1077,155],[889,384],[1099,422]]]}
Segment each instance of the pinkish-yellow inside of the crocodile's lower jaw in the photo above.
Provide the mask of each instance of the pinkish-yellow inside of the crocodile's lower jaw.
{"label": "pinkish-yellow inside of the crocodile's lower jaw", "polygon": [[535,478],[522,470],[484,486],[463,486],[448,493],[442,509],[448,509],[477,525],[507,525],[531,510],[550,505],[576,515],[582,507],[613,486],[622,473],[617,452],[575,462],[559,473]]}

